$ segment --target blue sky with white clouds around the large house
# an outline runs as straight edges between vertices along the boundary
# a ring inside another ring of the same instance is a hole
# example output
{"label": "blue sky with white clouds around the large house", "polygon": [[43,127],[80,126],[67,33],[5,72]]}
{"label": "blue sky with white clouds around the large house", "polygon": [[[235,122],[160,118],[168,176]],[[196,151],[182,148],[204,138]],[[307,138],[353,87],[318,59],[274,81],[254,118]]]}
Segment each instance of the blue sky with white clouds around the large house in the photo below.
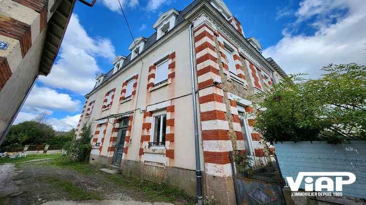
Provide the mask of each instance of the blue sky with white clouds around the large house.
{"label": "blue sky with white clouds around the large house", "polygon": [[[120,0],[134,38],[149,37],[159,16],[182,10],[191,1]],[[365,0],[224,0],[243,25],[246,38],[258,39],[265,58],[286,73],[319,78],[329,63],[366,63]],[[76,126],[98,73],[112,69],[116,55],[127,56],[132,38],[118,0],[97,0],[90,8],[77,1],[51,74],[41,76],[15,124],[49,114],[57,130]]]}

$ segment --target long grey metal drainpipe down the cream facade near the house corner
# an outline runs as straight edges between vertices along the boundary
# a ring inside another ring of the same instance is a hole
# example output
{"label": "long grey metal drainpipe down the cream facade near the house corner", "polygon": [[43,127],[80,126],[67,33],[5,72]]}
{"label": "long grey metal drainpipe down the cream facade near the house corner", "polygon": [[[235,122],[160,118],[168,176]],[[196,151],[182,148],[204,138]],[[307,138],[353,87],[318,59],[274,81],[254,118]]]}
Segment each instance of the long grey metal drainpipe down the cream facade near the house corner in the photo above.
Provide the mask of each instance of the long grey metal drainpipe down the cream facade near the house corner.
{"label": "long grey metal drainpipe down the cream facade near the house corner", "polygon": [[194,84],[194,63],[193,63],[193,47],[192,47],[192,26],[189,26],[189,48],[191,58],[191,74],[192,74],[192,100],[193,100],[193,113],[194,113],[194,138],[195,138],[195,150],[196,150],[196,179],[197,179],[197,204],[202,205],[202,171],[200,164],[200,148],[198,142],[198,127],[197,127],[197,108],[196,108],[196,88]]}

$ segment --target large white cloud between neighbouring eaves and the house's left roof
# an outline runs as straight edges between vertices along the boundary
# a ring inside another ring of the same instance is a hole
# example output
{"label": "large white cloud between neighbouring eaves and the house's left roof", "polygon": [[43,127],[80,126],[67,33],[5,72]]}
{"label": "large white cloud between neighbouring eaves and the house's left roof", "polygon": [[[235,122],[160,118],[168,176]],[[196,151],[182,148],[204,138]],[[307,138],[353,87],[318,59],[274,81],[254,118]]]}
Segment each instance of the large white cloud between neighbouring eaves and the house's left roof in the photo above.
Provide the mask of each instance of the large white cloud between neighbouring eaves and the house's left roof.
{"label": "large white cloud between neighbouring eaves and the house's left roof", "polygon": [[84,95],[92,90],[95,77],[101,71],[95,58],[112,61],[115,48],[109,39],[90,38],[81,26],[78,15],[73,14],[59,56],[51,73],[47,77],[41,76],[40,81]]}

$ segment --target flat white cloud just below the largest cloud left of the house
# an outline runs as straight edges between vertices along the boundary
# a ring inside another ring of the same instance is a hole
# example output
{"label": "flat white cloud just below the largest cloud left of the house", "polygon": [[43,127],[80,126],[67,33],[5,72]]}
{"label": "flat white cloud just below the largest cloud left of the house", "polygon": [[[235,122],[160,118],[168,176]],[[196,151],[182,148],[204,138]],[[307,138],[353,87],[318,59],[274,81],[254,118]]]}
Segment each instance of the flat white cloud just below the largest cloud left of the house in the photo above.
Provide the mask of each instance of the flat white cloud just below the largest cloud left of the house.
{"label": "flat white cloud just below the largest cloud left of the house", "polygon": [[24,106],[27,111],[33,109],[59,109],[68,112],[77,112],[81,108],[79,100],[72,100],[68,94],[56,92],[47,87],[34,86]]}

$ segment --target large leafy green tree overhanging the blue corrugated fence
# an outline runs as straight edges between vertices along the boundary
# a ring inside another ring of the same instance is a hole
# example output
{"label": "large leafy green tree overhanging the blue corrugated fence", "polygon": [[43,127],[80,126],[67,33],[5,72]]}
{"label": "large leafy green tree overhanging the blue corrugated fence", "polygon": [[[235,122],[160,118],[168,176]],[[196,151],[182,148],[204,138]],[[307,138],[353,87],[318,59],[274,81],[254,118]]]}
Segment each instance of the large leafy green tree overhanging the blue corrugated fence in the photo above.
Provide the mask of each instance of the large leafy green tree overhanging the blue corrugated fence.
{"label": "large leafy green tree overhanging the blue corrugated fence", "polygon": [[255,96],[264,97],[253,115],[266,142],[366,140],[366,66],[329,64],[321,70],[323,78],[290,75]]}

